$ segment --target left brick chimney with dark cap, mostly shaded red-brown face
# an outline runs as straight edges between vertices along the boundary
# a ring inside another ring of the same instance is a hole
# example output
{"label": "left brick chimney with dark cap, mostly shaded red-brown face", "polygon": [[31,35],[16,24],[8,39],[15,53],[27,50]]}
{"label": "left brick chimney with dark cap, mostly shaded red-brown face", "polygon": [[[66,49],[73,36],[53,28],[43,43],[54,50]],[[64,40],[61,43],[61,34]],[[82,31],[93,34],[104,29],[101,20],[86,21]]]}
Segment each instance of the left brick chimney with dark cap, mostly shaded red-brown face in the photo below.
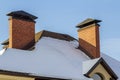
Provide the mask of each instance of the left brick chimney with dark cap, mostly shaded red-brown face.
{"label": "left brick chimney with dark cap, mostly shaded red-brown face", "polygon": [[25,11],[8,13],[9,17],[9,48],[29,49],[35,43],[35,19]]}

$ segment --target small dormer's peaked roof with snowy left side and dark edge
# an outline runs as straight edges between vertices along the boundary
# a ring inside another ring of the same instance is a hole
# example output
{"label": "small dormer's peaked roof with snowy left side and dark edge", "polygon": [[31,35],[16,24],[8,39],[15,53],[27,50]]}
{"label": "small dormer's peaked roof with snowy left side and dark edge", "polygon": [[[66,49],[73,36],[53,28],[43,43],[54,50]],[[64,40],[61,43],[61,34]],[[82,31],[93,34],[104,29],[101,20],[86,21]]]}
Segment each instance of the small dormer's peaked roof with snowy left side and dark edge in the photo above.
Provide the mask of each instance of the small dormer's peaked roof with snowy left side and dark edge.
{"label": "small dormer's peaked roof with snowy left side and dark edge", "polygon": [[[88,60],[83,63],[83,74],[88,76],[99,64],[107,70],[107,72],[115,79],[118,79],[117,75],[113,72],[113,70],[109,67],[106,61],[103,58],[97,58],[93,60]],[[85,69],[86,68],[86,69]]]}

